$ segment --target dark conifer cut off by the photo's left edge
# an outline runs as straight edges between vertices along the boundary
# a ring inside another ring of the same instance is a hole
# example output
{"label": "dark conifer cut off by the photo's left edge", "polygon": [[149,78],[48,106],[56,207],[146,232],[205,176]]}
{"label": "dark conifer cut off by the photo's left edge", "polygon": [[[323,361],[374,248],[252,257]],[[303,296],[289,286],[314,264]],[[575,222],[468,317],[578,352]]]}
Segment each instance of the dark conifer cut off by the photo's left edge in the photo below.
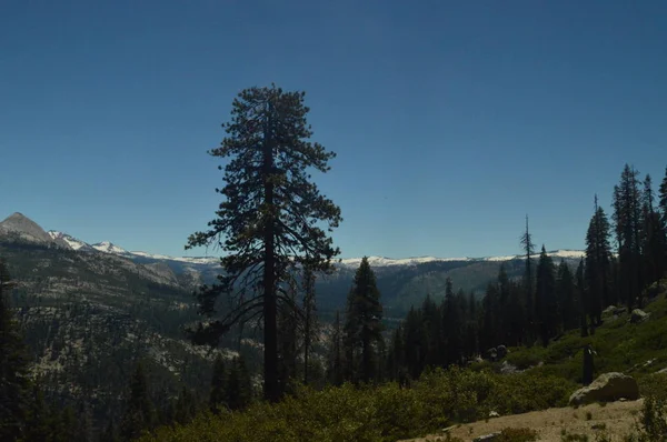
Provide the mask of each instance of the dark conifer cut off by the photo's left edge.
{"label": "dark conifer cut off by the photo's left edge", "polygon": [[0,259],[0,440],[14,441],[23,432],[30,383],[23,339],[9,305],[12,285]]}

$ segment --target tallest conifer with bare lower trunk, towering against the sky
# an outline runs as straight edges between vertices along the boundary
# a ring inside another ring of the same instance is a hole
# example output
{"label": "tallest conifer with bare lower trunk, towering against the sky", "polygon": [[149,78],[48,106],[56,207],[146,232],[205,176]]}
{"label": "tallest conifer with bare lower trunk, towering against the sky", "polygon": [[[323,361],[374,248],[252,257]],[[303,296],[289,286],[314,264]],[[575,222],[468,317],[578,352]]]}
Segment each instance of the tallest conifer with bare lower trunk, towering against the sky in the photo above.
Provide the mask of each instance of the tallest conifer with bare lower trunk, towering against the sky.
{"label": "tallest conifer with bare lower trunk, towering against the sky", "polygon": [[[210,230],[190,235],[187,248],[217,244],[228,252],[219,283],[203,287],[200,311],[216,314],[216,300],[226,294],[233,309],[222,318],[200,323],[193,340],[217,344],[235,323],[262,318],[265,398],[281,396],[278,380],[278,311],[286,300],[285,283],[295,269],[331,271],[339,253],[328,230],[338,227],[340,210],[320,194],[309,169],[329,170],[335,157],[319,143],[308,141],[312,132],[306,121],[309,109],[303,92],[250,88],[232,103],[228,137],[209,153],[228,158],[225,197],[209,222]],[[219,169],[222,169],[221,167]]]}

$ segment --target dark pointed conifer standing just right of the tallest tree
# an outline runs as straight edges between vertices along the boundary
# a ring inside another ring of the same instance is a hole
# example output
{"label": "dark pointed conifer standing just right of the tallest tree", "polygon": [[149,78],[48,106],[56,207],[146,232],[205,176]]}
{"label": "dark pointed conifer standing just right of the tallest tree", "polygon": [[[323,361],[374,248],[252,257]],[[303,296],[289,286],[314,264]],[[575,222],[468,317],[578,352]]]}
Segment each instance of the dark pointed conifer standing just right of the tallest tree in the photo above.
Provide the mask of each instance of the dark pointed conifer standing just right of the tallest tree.
{"label": "dark pointed conifer standing just right of the tallest tree", "polygon": [[[352,289],[348,294],[345,342],[347,363],[352,373],[359,373],[364,382],[372,381],[377,373],[377,351],[382,344],[382,304],[376,275],[368,258],[364,257],[355,274]],[[357,376],[352,374],[356,379]]]}

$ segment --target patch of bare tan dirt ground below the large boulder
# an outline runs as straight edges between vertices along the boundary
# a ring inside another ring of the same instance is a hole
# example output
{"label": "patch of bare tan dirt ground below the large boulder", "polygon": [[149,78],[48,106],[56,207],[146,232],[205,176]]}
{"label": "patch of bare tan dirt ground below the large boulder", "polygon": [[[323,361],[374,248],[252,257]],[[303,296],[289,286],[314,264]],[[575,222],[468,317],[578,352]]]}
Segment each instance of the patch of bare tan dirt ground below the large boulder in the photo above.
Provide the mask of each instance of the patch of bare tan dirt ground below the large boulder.
{"label": "patch of bare tan dirt ground below the large boulder", "polygon": [[[560,442],[564,430],[568,434],[587,434],[590,442],[595,442],[598,434],[605,434],[611,441],[623,441],[623,436],[635,428],[641,403],[643,400],[638,400],[611,402],[605,406],[590,404],[578,409],[548,409],[461,424],[448,432],[464,441],[472,441],[477,436],[511,426],[530,428],[537,431],[538,441],[545,442]],[[409,442],[445,441],[444,434],[410,439]]]}

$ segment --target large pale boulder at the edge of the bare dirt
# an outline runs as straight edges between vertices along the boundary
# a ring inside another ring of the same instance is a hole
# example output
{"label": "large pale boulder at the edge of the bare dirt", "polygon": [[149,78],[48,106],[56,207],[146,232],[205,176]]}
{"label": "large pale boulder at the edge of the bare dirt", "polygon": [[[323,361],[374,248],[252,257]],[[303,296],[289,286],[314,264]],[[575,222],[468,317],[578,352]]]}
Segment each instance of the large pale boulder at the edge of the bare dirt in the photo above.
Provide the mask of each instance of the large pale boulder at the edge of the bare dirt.
{"label": "large pale boulder at the edge of the bare dirt", "polygon": [[620,398],[639,399],[639,386],[634,378],[623,373],[605,373],[588,386],[575,391],[569,399],[570,405],[584,405],[594,402],[611,402]]}

